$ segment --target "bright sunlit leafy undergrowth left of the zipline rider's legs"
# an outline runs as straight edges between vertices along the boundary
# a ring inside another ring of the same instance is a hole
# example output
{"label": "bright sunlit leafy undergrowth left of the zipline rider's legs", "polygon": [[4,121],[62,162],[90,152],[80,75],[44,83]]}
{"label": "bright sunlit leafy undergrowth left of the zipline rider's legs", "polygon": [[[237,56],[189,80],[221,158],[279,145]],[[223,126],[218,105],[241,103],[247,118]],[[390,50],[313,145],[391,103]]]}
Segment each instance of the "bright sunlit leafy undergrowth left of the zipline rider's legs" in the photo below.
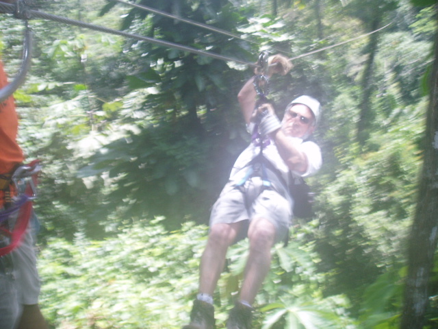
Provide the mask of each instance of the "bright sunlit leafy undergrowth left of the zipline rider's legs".
{"label": "bright sunlit leafy undergrowth left of the zipline rider's legs", "polygon": [[129,329],[179,328],[188,321],[205,227],[186,223],[167,232],[161,220],[136,223],[104,241],[51,239],[39,262],[40,303],[49,322]]}

